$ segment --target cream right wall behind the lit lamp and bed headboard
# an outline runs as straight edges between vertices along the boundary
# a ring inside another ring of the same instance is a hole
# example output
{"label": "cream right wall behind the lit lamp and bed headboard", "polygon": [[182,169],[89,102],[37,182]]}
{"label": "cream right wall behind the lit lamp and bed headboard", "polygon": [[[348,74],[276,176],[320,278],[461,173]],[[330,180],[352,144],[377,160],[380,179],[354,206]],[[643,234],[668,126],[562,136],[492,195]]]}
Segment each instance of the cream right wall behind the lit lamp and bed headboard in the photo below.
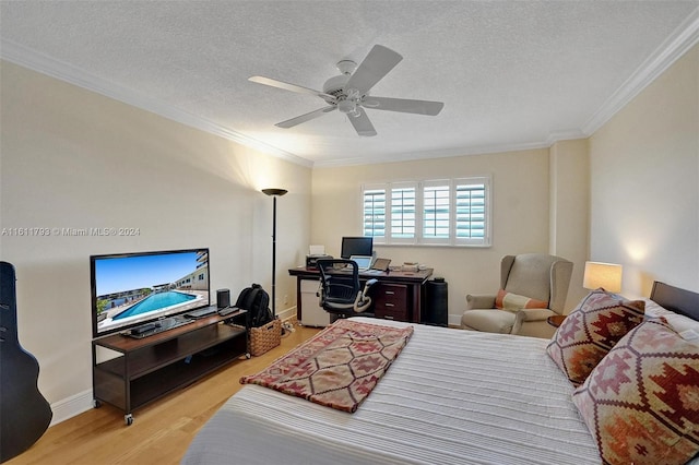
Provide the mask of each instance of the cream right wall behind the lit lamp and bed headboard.
{"label": "cream right wall behind the lit lamp and bed headboard", "polygon": [[591,259],[623,264],[628,296],[699,291],[699,46],[593,134],[590,159]]}

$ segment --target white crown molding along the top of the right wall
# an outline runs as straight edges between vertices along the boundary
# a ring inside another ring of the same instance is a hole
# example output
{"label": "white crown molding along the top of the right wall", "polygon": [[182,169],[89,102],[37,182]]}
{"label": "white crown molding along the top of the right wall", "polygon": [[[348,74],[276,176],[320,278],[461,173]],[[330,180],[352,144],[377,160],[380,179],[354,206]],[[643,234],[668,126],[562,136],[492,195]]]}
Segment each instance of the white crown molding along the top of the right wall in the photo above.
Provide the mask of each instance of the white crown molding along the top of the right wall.
{"label": "white crown molding along the top of the right wall", "polygon": [[699,7],[607,98],[602,108],[582,127],[582,132],[588,136],[592,135],[697,43],[699,43]]}

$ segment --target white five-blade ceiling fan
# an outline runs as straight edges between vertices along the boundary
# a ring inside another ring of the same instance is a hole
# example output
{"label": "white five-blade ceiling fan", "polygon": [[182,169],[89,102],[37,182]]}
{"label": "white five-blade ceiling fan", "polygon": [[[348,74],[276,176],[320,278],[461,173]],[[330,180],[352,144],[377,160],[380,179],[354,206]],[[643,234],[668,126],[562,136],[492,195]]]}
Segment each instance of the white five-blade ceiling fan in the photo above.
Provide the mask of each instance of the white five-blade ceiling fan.
{"label": "white five-blade ceiling fan", "polygon": [[293,128],[324,114],[340,110],[340,112],[348,116],[350,122],[352,122],[357,134],[370,136],[376,135],[376,129],[374,129],[374,124],[371,124],[364,108],[436,116],[445,106],[441,102],[374,97],[369,95],[371,87],[383,79],[402,59],[403,57],[395,51],[381,45],[375,45],[358,67],[352,60],[340,61],[337,69],[342,74],[325,81],[322,92],[264,76],[252,76],[248,80],[299,94],[316,95],[328,104],[325,107],[277,122],[274,126]]}

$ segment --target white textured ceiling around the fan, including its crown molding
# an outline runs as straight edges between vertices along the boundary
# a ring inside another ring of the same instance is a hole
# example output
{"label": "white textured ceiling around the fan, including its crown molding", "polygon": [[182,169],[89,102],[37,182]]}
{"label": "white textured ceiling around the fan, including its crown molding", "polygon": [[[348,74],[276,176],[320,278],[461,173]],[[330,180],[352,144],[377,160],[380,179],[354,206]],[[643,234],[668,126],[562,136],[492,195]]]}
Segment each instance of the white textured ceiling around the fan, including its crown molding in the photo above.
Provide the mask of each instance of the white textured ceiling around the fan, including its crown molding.
{"label": "white textured ceiling around the fan, including its crown molding", "polygon": [[[316,166],[546,146],[589,135],[674,50],[695,1],[0,2],[3,59]],[[341,59],[375,44],[404,59],[372,95],[440,100],[436,117],[337,111],[292,129]],[[679,44],[679,45],[678,45]],[[670,50],[670,51],[667,51]]]}

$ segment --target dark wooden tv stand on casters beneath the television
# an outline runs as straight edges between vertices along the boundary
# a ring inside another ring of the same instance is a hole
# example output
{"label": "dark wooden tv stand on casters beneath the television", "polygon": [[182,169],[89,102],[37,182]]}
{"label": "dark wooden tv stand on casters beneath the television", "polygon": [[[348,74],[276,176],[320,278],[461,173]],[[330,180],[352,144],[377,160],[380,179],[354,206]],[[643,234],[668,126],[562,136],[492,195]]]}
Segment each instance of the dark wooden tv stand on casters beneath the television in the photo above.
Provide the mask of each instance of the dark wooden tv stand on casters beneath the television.
{"label": "dark wooden tv stand on casters beneath the television", "polygon": [[[241,355],[249,357],[246,313],[214,313],[143,338],[115,334],[94,339],[95,408],[103,402],[114,405],[123,410],[125,422],[131,425],[133,409],[193,383]],[[98,353],[108,354],[104,349],[118,355],[98,360]]]}

